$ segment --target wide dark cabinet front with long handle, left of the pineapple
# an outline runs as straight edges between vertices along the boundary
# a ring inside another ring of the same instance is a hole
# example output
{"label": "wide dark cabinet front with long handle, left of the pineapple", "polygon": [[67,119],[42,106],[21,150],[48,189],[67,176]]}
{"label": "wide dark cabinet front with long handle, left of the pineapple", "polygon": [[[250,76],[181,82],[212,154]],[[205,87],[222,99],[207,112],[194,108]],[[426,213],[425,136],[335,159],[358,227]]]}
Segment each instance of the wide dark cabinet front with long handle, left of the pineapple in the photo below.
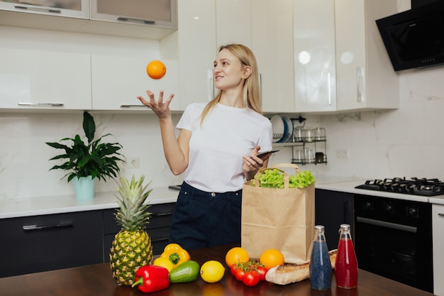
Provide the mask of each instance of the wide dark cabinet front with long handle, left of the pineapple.
{"label": "wide dark cabinet front with long handle, left of the pineapple", "polygon": [[103,262],[101,211],[0,219],[0,278]]}

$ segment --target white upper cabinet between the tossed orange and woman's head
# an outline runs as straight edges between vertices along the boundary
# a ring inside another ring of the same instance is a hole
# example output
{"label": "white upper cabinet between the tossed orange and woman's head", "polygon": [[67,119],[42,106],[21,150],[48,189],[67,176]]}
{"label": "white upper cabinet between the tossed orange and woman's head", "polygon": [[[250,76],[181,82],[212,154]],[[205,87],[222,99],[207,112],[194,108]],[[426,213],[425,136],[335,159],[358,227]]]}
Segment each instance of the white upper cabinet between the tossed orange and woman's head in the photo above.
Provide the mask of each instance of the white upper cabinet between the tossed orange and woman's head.
{"label": "white upper cabinet between the tossed orange and woman's head", "polygon": [[[179,61],[179,110],[214,97],[213,60],[216,55],[216,2],[178,1],[180,30],[160,40],[162,59]],[[170,93],[165,89],[165,92]]]}

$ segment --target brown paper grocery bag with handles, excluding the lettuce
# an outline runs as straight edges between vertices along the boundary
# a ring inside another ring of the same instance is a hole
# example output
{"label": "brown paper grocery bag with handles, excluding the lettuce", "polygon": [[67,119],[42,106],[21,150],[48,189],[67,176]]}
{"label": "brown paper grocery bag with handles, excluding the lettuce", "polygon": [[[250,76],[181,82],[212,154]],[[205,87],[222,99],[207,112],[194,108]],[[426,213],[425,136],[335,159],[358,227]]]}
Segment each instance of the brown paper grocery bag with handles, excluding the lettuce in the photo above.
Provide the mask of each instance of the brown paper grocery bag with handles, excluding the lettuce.
{"label": "brown paper grocery bag with handles, excluding the lettuce", "polygon": [[[294,164],[277,164],[272,168],[299,168]],[[257,176],[245,182],[242,193],[241,246],[250,258],[276,248],[286,263],[309,261],[309,248],[315,224],[314,184],[309,187],[289,188],[289,176],[284,175],[284,188],[260,187]]]}

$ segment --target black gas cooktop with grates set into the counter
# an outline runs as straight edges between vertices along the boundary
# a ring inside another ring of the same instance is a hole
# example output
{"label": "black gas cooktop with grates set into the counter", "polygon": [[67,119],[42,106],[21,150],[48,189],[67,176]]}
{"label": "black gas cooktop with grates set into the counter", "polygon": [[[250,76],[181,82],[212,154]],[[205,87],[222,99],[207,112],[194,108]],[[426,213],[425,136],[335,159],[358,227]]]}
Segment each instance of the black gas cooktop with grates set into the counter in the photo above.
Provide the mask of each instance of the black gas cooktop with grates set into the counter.
{"label": "black gas cooktop with grates set into the counter", "polygon": [[438,179],[427,179],[412,177],[394,177],[384,180],[367,180],[365,184],[358,185],[355,188],[365,190],[376,190],[385,192],[395,192],[403,194],[422,195],[431,197],[444,194],[444,182]]}

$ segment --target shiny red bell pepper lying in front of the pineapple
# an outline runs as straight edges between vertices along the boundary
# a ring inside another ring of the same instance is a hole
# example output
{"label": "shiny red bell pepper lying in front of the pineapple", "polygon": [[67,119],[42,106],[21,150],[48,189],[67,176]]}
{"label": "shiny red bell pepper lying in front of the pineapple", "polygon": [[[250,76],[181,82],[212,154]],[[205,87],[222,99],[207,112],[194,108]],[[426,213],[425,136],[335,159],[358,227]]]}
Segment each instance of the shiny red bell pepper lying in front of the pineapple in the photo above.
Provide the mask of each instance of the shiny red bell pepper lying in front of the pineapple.
{"label": "shiny red bell pepper lying in front of the pineapple", "polygon": [[170,286],[168,270],[157,265],[142,266],[135,271],[135,279],[131,287],[135,287],[135,285],[144,293],[164,290]]}

